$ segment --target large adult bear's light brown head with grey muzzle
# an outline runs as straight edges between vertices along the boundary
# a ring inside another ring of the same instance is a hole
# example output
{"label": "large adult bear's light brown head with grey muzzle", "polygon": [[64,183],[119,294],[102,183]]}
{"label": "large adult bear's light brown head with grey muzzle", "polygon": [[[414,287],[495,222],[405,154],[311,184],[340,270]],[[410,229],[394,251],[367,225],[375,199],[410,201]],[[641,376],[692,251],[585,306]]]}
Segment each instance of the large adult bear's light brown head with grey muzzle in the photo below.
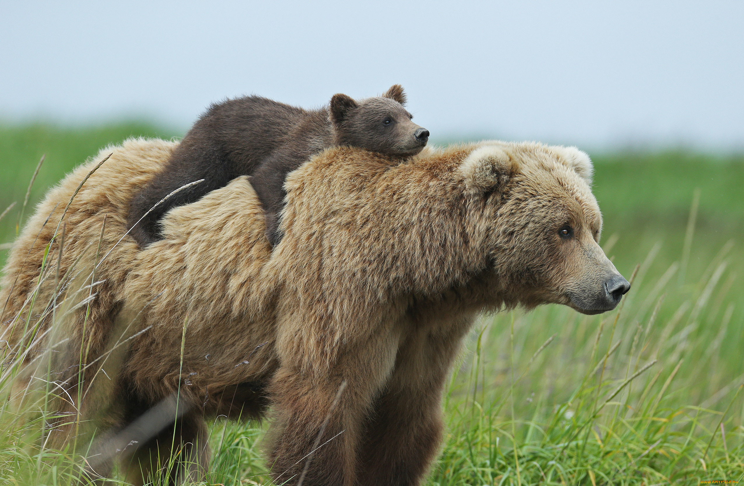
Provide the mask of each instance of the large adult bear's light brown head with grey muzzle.
{"label": "large adult bear's light brown head with grey muzzle", "polygon": [[[479,232],[505,301],[615,308],[630,285],[598,242],[602,216],[589,156],[575,147],[484,142],[460,166],[466,197],[490,214]],[[483,218],[476,218],[484,221]]]}

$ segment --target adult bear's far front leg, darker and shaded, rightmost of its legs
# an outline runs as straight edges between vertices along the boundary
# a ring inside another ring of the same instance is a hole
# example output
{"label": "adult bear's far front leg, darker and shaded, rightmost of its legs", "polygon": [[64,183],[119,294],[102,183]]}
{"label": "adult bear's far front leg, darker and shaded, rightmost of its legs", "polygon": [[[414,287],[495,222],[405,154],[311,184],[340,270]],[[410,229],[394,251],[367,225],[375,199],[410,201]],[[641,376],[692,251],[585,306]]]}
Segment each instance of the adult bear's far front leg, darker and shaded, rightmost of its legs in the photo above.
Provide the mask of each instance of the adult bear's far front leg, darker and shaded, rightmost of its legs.
{"label": "adult bear's far front leg, darker and shaded, rightmost of its legs", "polygon": [[420,484],[439,450],[443,387],[470,323],[468,317],[444,329],[417,328],[405,339],[363,432],[358,485]]}

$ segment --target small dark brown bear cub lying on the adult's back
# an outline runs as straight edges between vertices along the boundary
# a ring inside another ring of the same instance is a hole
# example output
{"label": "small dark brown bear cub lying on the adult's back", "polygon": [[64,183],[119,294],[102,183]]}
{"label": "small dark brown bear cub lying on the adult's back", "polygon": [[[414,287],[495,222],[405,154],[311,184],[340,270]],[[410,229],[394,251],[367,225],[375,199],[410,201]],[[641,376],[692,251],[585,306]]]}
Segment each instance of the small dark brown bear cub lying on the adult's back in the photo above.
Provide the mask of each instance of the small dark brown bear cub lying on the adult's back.
{"label": "small dark brown bear cub lying on the adult's back", "polygon": [[[161,239],[159,221],[173,207],[190,204],[240,176],[251,185],[266,213],[266,236],[280,242],[279,216],[284,207],[284,179],[310,156],[333,145],[368,149],[401,158],[416,155],[429,130],[411,121],[405,93],[391,86],[381,97],[355,101],[334,94],[330,106],[305,110],[267,98],[247,96],[213,104],[194,123],[165,168],[129,205],[131,235],[144,247]],[[187,187],[155,207],[179,187]]]}

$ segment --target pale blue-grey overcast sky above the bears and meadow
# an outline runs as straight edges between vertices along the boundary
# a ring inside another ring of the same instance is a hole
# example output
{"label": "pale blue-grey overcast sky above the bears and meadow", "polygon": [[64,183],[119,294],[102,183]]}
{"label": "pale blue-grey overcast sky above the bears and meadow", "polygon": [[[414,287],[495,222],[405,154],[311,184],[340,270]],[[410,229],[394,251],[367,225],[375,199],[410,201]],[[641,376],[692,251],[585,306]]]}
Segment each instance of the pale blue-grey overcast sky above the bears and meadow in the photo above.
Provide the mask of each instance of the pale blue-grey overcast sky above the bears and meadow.
{"label": "pale blue-grey overcast sky above the bears and meadow", "polygon": [[400,82],[443,137],[744,147],[743,1],[4,1],[0,120],[185,129]]}

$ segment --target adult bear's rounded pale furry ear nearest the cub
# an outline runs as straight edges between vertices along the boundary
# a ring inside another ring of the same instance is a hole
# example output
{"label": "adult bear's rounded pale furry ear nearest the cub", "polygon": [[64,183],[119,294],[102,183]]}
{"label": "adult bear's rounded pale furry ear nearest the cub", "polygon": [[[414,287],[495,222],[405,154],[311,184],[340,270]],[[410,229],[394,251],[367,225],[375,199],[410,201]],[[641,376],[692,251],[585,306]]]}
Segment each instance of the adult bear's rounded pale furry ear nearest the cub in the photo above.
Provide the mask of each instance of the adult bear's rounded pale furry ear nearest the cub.
{"label": "adult bear's rounded pale furry ear nearest the cub", "polygon": [[470,152],[460,164],[460,172],[469,192],[488,192],[506,184],[519,172],[519,164],[500,146],[484,145]]}

